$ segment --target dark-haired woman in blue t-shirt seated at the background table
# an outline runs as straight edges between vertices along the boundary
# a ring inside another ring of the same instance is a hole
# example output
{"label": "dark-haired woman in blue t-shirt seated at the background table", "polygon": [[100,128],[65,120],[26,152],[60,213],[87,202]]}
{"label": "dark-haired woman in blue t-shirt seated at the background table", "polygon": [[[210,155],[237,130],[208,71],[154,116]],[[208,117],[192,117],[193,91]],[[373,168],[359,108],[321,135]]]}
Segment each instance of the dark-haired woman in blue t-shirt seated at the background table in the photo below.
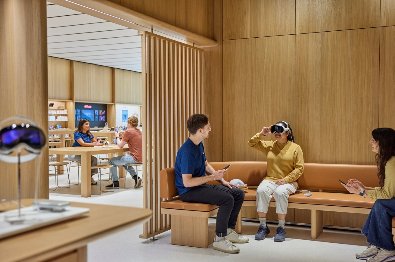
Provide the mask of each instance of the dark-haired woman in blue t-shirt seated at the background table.
{"label": "dark-haired woman in blue t-shirt seated at the background table", "polygon": [[[79,121],[77,130],[74,132],[74,143],[73,147],[94,147],[96,139],[93,134],[89,131],[89,120],[83,118]],[[100,145],[103,145],[102,143]],[[81,156],[79,155],[69,155],[68,159],[70,161],[77,161],[81,164]],[[98,159],[95,156],[91,156],[91,166],[97,166]],[[97,169],[92,169],[92,175],[98,173]],[[96,185],[97,182],[91,177],[91,185]]]}

